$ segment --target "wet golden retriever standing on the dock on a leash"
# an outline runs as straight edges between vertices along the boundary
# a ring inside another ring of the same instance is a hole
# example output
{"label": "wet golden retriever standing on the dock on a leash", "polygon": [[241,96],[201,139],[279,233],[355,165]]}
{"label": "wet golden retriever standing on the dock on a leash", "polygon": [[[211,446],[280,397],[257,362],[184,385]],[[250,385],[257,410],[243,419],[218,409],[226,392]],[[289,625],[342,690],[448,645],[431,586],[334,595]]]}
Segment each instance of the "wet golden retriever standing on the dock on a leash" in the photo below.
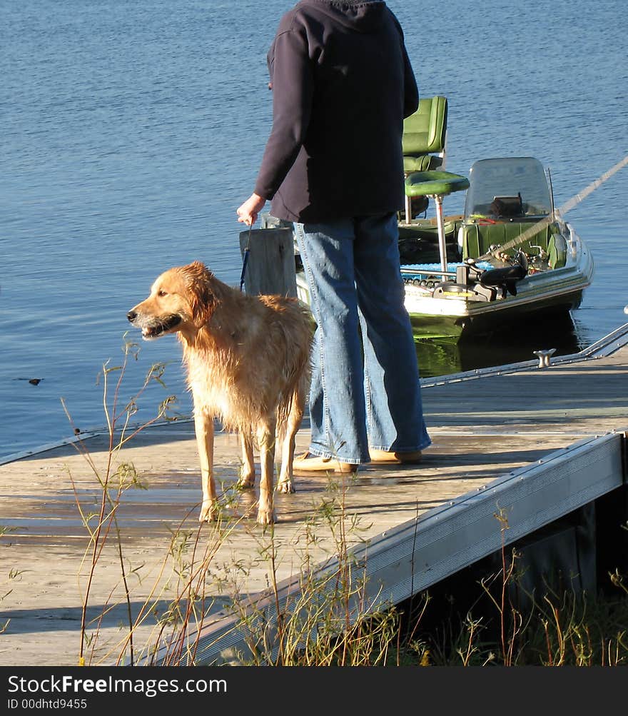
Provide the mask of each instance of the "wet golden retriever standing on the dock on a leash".
{"label": "wet golden retriever standing on the dock on a leash", "polygon": [[276,436],[281,447],[276,488],[294,492],[294,437],[310,375],[309,309],[285,296],[248,296],[195,261],[161,274],[150,296],[132,308],[127,319],[145,339],[175,333],[183,344],[201,462],[199,521],[218,514],[213,478],[213,421],[218,418],[226,430],[240,433],[242,488],[255,483],[256,439],[261,463],[257,521],[274,522]]}

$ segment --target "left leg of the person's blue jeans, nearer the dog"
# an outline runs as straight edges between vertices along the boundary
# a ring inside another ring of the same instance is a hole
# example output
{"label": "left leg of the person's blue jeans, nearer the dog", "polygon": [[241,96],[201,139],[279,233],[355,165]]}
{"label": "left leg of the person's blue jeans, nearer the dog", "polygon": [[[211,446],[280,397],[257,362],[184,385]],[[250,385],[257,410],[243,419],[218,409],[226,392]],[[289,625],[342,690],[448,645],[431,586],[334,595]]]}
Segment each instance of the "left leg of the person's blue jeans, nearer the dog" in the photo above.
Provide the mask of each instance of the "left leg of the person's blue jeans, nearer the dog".
{"label": "left leg of the person's blue jeans, nearer the dog", "polygon": [[352,219],[294,225],[317,323],[309,396],[310,452],[369,460]]}

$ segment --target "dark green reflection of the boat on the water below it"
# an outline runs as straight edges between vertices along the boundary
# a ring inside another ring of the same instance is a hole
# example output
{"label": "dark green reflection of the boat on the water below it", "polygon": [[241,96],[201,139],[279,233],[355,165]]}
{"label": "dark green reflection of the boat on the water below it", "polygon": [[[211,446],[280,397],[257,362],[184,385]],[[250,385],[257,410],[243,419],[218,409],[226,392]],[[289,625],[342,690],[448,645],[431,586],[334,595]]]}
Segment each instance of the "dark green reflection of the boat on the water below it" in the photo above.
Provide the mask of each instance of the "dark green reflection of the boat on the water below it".
{"label": "dark green reflection of the boat on the water below it", "polygon": [[554,357],[558,357],[586,347],[571,314],[558,314],[544,321],[521,321],[491,334],[462,338],[425,337],[415,319],[412,324],[422,378],[537,360],[536,350],[555,348]]}

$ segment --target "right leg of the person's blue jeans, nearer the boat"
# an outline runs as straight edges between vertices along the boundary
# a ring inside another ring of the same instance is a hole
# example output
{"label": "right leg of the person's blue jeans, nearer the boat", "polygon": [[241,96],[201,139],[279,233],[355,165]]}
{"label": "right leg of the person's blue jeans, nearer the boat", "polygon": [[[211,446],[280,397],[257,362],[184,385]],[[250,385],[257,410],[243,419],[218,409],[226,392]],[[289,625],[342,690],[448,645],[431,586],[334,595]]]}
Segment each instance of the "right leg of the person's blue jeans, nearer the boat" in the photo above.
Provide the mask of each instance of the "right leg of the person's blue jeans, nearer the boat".
{"label": "right leg of the person's blue jeans, nearer the boat", "polygon": [[431,444],[417,354],[404,306],[397,217],[355,220],[354,267],[364,344],[369,445],[398,452]]}

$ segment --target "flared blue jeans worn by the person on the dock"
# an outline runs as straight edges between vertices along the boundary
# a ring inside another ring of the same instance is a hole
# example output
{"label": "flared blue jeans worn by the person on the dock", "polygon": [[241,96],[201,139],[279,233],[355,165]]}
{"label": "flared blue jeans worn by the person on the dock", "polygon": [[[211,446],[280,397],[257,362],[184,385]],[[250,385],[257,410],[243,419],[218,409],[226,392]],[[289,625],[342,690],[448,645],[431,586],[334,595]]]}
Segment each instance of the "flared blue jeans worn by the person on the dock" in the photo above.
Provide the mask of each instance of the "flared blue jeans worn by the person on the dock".
{"label": "flared blue jeans worn by the person on the dock", "polygon": [[369,447],[431,444],[400,273],[397,216],[295,223],[317,323],[309,452],[368,463]]}

